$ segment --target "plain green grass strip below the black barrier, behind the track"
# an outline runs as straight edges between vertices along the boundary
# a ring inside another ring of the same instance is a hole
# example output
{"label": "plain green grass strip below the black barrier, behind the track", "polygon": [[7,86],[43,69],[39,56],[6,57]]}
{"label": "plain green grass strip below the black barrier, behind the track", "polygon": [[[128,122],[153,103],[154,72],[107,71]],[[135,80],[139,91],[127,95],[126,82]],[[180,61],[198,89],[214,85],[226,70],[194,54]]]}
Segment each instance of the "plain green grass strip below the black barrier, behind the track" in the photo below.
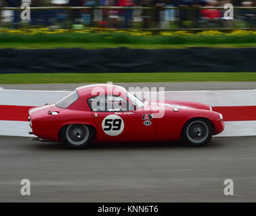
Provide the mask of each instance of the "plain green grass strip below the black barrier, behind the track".
{"label": "plain green grass strip below the black barrier, behind the track", "polygon": [[102,83],[102,82],[253,82],[256,73],[98,73],[0,74],[0,84]]}

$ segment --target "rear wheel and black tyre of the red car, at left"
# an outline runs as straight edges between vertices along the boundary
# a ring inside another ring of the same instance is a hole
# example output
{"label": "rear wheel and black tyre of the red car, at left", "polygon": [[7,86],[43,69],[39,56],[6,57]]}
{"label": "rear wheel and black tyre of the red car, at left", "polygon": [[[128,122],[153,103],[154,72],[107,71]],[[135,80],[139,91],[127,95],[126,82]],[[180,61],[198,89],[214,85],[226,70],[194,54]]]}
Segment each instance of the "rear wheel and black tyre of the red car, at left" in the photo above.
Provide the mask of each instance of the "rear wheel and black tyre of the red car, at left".
{"label": "rear wheel and black tyre of the red car, at left", "polygon": [[60,130],[60,138],[71,148],[87,148],[95,136],[95,130],[85,124],[70,124]]}

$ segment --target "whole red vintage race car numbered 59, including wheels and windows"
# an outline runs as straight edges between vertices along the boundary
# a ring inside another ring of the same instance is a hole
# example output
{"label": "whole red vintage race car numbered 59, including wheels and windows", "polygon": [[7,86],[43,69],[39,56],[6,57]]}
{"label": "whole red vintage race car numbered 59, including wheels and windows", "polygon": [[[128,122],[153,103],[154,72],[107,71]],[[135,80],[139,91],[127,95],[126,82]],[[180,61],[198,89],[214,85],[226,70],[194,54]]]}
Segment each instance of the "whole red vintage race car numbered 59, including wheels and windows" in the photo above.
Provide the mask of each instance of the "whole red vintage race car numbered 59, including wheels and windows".
{"label": "whole red vintage race car numbered 59, including wheels and windows", "polygon": [[224,129],[221,113],[187,101],[147,103],[121,86],[93,84],[77,88],[56,104],[30,109],[37,138],[73,148],[93,142],[184,139],[202,146]]}

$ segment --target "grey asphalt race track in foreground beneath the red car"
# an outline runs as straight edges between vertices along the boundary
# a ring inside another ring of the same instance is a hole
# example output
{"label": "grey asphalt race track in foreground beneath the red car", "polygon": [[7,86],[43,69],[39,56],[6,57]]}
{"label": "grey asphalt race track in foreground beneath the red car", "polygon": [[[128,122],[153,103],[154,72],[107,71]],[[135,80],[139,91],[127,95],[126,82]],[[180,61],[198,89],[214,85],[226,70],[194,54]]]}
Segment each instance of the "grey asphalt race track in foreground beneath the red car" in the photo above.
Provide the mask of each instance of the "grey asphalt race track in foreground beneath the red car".
{"label": "grey asphalt race track in foreground beneath the red car", "polygon": [[[256,137],[183,142],[62,144],[0,136],[0,201],[255,202]],[[20,194],[28,179],[31,195]],[[223,182],[234,181],[234,195]]]}

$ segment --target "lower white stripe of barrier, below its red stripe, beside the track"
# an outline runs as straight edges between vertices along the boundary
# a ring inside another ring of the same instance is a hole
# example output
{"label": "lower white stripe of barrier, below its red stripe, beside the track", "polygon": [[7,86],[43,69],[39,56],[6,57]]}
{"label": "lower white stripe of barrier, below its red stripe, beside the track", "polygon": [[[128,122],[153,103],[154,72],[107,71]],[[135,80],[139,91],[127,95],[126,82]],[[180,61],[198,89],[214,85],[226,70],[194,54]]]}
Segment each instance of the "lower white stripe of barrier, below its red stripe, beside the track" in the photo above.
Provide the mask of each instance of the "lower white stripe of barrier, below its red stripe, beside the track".
{"label": "lower white stripe of barrier, below its red stripe, beside the track", "polygon": [[[0,121],[1,136],[30,136],[27,121]],[[217,136],[256,136],[256,121],[226,121],[225,130]]]}

